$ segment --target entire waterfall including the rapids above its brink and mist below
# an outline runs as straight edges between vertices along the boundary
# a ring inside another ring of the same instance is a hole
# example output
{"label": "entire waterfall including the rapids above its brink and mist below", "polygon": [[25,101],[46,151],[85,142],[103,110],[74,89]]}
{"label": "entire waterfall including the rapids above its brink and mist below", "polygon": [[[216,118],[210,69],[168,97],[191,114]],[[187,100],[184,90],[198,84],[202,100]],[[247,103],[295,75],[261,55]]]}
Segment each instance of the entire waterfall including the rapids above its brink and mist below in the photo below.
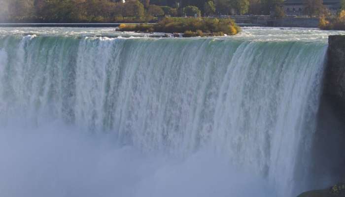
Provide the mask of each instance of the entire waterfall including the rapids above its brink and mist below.
{"label": "entire waterfall including the rapids above its brink and mist below", "polygon": [[311,189],[322,33],[152,38],[2,28],[0,196],[294,197]]}

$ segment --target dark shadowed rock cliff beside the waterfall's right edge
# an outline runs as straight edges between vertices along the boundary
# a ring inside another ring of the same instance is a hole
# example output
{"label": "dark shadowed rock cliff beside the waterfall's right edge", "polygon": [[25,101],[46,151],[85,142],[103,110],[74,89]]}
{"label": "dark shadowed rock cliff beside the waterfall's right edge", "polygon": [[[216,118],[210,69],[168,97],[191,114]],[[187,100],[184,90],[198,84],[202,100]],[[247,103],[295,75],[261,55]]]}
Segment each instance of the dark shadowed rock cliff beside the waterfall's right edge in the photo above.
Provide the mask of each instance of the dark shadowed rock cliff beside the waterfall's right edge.
{"label": "dark shadowed rock cliff beside the waterfall's right edge", "polygon": [[[342,151],[345,150],[345,35],[329,36],[327,59],[309,172],[309,180],[315,180],[310,188],[319,189],[345,181],[345,151]],[[326,174],[326,179],[319,178]],[[345,185],[344,192],[339,194],[330,192],[329,188],[298,197],[345,197]]]}

